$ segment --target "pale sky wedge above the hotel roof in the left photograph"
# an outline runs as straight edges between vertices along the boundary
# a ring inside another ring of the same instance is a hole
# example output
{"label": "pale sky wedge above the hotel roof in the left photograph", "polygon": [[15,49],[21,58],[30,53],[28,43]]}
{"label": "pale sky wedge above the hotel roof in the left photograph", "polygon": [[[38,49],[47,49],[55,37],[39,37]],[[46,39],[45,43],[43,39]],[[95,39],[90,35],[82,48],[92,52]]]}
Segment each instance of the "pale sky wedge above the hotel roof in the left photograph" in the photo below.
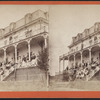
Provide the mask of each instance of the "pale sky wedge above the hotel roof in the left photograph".
{"label": "pale sky wedge above the hotel roof in the left photograph", "polygon": [[8,26],[11,22],[16,22],[27,13],[41,9],[48,11],[47,5],[0,5],[0,28]]}

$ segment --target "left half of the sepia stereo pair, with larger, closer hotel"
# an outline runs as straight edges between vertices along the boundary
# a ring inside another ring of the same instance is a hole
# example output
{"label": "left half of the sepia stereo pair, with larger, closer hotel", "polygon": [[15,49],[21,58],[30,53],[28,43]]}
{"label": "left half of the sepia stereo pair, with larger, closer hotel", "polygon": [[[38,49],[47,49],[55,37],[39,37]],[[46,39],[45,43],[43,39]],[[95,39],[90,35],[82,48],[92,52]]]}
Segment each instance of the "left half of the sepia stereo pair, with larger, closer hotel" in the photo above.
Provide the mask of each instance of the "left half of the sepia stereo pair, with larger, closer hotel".
{"label": "left half of the sepia stereo pair, with larger, closer hotel", "polygon": [[0,91],[47,91],[49,6],[0,5]]}

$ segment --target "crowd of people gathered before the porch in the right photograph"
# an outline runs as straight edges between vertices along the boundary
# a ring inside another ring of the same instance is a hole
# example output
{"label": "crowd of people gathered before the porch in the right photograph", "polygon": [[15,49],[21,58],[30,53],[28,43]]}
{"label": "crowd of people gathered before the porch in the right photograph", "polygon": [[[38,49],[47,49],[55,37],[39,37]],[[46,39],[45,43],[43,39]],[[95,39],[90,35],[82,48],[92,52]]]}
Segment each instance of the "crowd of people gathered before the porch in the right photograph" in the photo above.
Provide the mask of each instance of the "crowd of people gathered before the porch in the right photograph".
{"label": "crowd of people gathered before the porch in the right photograph", "polygon": [[77,64],[75,67],[66,67],[64,70],[64,80],[74,81],[76,79],[87,80],[88,76],[92,73],[95,74],[96,71],[100,69],[99,59],[97,58],[95,61],[92,58],[91,63],[82,62],[82,64]]}

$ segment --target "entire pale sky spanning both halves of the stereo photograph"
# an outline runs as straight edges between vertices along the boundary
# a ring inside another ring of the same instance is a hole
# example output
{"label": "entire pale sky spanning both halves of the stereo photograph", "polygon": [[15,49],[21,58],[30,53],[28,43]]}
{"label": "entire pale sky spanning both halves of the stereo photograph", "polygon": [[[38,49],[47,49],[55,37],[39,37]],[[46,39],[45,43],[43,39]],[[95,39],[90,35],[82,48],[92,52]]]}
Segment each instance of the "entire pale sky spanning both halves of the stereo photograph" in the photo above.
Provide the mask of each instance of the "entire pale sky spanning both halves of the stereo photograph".
{"label": "entire pale sky spanning both halves of the stereo photograph", "polygon": [[0,28],[38,9],[49,11],[51,56],[57,61],[55,66],[59,56],[68,52],[73,36],[100,22],[100,5],[0,5]]}

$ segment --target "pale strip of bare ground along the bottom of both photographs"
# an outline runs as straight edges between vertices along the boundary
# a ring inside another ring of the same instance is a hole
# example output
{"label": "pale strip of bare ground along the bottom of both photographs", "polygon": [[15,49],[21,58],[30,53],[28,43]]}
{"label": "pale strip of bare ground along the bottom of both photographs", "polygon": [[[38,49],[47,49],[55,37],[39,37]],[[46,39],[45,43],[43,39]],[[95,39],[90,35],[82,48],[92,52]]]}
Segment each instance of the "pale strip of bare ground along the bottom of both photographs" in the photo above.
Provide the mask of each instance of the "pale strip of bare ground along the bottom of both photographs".
{"label": "pale strip of bare ground along the bottom of both photographs", "polygon": [[[91,83],[91,84],[90,84]],[[95,88],[94,88],[95,87]],[[56,82],[50,84],[23,82],[0,82],[0,91],[100,91],[100,82]]]}

